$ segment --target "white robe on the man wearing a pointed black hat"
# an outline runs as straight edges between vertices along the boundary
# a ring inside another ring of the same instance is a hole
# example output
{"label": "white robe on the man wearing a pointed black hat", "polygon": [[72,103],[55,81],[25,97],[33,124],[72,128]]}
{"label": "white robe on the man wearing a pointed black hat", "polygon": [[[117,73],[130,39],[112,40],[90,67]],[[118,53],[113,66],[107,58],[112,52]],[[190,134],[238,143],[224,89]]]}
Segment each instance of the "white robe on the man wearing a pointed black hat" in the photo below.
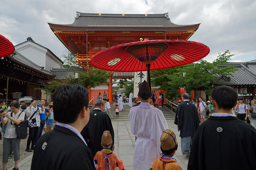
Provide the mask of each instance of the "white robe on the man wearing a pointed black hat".
{"label": "white robe on the man wearing a pointed black hat", "polygon": [[160,157],[160,137],[168,129],[164,114],[149,103],[141,102],[130,109],[132,134],[137,138],[133,155],[133,170],[151,168]]}

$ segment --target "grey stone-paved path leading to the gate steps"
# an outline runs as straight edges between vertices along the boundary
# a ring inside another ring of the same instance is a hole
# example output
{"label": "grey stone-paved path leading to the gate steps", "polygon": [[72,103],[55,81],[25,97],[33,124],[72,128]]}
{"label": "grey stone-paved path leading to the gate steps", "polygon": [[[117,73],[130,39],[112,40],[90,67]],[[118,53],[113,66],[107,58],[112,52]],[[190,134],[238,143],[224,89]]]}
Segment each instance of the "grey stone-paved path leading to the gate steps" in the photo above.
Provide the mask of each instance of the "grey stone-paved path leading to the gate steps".
{"label": "grey stone-paved path leading to the gate steps", "polygon": [[[178,150],[176,151],[174,158],[177,163],[180,164],[183,170],[187,169],[188,158],[183,156],[180,150],[180,133],[177,130],[177,125],[175,125],[174,120],[167,120],[168,128],[173,130],[177,137]],[[112,121],[112,125],[115,131],[115,150],[117,158],[122,159],[124,162],[124,167],[126,170],[132,170],[132,161],[134,153],[135,136],[131,132],[131,126],[129,121]],[[160,140],[160,139],[159,139]],[[32,155],[28,156],[26,159],[20,161],[20,170],[30,170]],[[153,164],[153,162],[152,162]],[[13,167],[12,167],[13,168]],[[10,168],[9,170],[12,170]]]}

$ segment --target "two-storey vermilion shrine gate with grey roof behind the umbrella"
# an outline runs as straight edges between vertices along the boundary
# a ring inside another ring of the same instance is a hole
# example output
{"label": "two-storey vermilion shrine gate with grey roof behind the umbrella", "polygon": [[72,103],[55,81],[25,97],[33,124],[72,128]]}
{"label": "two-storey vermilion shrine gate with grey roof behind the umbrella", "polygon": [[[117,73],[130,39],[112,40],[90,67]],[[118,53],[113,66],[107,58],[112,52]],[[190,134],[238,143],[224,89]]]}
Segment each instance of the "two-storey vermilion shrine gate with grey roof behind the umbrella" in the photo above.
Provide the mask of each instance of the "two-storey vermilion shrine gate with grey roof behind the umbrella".
{"label": "two-storey vermilion shrine gate with grey roof behind the umbrella", "polygon": [[[90,69],[90,60],[100,50],[128,42],[148,40],[188,40],[200,24],[176,25],[164,14],[98,14],[76,12],[73,24],[48,23],[58,39],[76,55],[76,62]],[[125,67],[125,66],[124,66]],[[133,78],[132,72],[113,73],[109,85],[90,90],[95,102],[99,92],[107,92],[112,103],[112,78]]]}

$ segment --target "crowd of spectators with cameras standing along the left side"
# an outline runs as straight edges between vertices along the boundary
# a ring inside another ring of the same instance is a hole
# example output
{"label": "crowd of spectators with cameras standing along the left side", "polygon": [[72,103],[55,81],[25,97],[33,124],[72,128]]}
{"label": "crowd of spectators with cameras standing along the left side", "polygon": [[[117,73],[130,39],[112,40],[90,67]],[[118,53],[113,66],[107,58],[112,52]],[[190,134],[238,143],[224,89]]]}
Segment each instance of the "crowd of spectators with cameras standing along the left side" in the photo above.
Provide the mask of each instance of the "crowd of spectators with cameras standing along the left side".
{"label": "crowd of spectators with cameras standing along the left side", "polygon": [[[32,99],[27,107],[24,101],[20,103],[13,100],[7,108],[4,100],[0,100],[0,118],[3,137],[3,169],[6,169],[8,159],[14,159],[14,169],[18,169],[20,160],[20,138],[17,137],[16,125],[27,122],[28,140],[27,152],[34,150],[37,140],[42,136],[42,131],[50,131],[53,126],[53,105],[44,106],[44,100]],[[45,123],[46,122],[46,123]],[[40,128],[42,127],[42,128]],[[27,129],[27,128],[26,128]],[[26,130],[25,129],[25,130]],[[26,132],[27,133],[27,130]],[[2,133],[0,133],[2,137]],[[31,144],[31,149],[30,149]]]}

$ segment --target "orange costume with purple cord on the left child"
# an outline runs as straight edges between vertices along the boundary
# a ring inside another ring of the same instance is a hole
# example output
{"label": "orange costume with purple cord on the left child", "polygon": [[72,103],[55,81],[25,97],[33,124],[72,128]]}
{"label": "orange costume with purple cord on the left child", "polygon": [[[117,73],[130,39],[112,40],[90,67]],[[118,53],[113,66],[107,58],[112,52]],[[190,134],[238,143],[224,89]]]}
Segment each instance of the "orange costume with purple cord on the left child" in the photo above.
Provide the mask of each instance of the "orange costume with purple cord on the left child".
{"label": "orange costume with purple cord on the left child", "polygon": [[110,150],[101,150],[96,153],[93,160],[96,170],[125,170],[123,161],[118,160],[116,154]]}

